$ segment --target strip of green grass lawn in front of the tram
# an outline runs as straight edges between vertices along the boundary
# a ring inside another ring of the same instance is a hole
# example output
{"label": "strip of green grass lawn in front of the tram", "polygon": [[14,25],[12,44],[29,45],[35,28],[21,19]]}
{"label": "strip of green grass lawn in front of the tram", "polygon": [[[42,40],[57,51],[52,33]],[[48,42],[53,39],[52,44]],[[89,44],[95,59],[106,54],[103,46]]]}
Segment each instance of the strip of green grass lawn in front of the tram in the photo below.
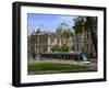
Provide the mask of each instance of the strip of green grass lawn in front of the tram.
{"label": "strip of green grass lawn in front of the tram", "polygon": [[28,64],[27,71],[46,71],[46,70],[72,70],[85,69],[87,65],[82,64],[61,64],[61,63],[34,63]]}

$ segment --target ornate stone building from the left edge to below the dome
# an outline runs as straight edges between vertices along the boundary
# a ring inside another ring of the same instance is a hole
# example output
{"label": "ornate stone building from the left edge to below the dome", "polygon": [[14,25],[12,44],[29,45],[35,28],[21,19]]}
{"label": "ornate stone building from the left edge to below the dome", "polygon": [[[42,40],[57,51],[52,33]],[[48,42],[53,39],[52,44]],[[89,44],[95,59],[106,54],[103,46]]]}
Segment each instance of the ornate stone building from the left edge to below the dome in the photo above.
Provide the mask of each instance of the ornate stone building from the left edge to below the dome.
{"label": "ornate stone building from the left edge to below the dome", "polygon": [[27,55],[33,58],[40,53],[52,53],[51,47],[55,45],[62,46],[63,44],[66,44],[70,47],[70,51],[73,45],[72,36],[64,38],[56,35],[55,33],[40,32],[39,29],[28,36],[27,41]]}

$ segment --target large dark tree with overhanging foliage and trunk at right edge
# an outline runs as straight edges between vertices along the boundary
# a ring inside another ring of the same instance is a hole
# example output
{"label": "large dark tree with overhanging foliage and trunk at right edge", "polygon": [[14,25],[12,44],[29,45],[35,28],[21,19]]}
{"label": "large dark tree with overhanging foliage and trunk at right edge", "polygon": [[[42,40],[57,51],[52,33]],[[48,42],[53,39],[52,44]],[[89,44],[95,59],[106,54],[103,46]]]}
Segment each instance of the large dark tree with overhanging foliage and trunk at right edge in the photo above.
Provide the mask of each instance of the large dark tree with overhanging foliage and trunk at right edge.
{"label": "large dark tree with overhanging foliage and trunk at right edge", "polygon": [[77,16],[74,19],[73,29],[74,29],[75,34],[82,33],[85,30],[90,31],[92,41],[97,54],[97,18],[96,16]]}

